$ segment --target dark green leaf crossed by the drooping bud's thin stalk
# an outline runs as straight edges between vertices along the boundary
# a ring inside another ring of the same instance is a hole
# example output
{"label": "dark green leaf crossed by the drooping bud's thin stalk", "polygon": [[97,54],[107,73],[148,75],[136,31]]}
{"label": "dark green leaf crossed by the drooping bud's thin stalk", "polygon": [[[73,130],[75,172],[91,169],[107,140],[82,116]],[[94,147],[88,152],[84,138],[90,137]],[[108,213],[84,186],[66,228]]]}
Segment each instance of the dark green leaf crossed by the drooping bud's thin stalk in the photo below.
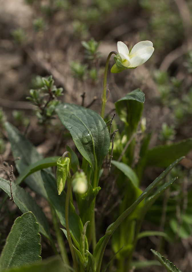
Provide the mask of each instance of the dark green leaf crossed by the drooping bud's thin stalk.
{"label": "dark green leaf crossed by the drooping bud's thin stalk", "polygon": [[[46,171],[41,171],[41,176],[45,184],[45,189],[47,191],[48,199],[55,208],[57,216],[61,224],[66,227],[65,224],[65,199],[66,193],[63,191],[60,195],[57,192],[57,182],[56,179]],[[75,245],[79,248],[81,232],[83,230],[83,223],[81,218],[77,215],[75,207],[70,202],[69,203],[69,230],[71,237]]]}

